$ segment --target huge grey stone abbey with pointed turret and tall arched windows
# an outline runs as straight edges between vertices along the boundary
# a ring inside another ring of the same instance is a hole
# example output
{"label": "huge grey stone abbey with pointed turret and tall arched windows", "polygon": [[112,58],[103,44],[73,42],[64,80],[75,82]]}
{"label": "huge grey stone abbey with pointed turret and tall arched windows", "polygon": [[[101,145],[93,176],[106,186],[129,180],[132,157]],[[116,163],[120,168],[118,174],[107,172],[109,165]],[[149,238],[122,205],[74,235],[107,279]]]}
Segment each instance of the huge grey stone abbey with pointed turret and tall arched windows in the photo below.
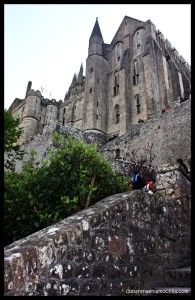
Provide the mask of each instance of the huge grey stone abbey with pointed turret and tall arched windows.
{"label": "huge grey stone abbey with pointed turret and tall arched windows", "polygon": [[96,20],[86,74],[81,65],[64,101],[45,99],[31,86],[29,82],[25,98],[16,98],[9,108],[21,120],[22,143],[57,122],[121,136],[132,124],[189,99],[190,66],[150,20],[125,16],[110,44],[104,43]]}

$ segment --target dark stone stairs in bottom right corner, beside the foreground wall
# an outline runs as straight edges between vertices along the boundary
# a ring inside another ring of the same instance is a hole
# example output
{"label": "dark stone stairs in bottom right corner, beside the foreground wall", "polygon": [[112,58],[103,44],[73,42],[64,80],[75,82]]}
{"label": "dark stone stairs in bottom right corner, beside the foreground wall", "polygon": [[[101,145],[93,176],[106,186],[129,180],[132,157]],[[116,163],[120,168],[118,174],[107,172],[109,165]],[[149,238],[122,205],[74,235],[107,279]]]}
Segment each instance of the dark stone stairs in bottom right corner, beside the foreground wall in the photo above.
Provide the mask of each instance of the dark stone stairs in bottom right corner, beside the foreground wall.
{"label": "dark stone stairs in bottom right corner, beside the foreground wall", "polygon": [[164,273],[165,284],[163,287],[156,287],[157,295],[191,295],[191,265],[167,268]]}

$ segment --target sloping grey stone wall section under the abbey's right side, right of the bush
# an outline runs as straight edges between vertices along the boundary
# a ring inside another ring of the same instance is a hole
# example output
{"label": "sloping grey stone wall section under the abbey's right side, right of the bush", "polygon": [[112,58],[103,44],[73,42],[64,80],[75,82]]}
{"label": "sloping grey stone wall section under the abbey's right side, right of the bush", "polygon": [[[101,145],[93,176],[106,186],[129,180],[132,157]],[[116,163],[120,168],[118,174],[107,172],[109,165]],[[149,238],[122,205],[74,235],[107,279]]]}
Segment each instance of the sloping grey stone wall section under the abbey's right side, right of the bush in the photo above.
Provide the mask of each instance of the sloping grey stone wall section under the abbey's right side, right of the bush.
{"label": "sloping grey stone wall section under the abbey's right side, right of the bush", "polygon": [[187,161],[191,151],[191,100],[176,102],[171,110],[144,123],[131,125],[128,132],[108,142],[102,152],[111,161],[116,160],[116,149],[121,159],[130,161],[132,151],[136,155],[147,154],[147,146],[153,144],[153,164],[174,164],[178,158]]}

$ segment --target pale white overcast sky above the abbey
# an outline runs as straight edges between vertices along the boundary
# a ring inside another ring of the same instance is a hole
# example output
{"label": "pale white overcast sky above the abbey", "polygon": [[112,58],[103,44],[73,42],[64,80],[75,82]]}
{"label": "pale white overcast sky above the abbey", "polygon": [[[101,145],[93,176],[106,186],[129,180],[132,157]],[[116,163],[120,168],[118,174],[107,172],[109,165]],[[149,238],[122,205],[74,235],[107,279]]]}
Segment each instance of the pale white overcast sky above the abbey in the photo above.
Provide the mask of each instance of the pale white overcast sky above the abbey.
{"label": "pale white overcast sky above the abbey", "polygon": [[150,19],[191,64],[190,4],[6,4],[4,12],[5,108],[24,98],[28,81],[44,97],[64,100],[81,63],[85,73],[96,17],[105,43],[125,15]]}

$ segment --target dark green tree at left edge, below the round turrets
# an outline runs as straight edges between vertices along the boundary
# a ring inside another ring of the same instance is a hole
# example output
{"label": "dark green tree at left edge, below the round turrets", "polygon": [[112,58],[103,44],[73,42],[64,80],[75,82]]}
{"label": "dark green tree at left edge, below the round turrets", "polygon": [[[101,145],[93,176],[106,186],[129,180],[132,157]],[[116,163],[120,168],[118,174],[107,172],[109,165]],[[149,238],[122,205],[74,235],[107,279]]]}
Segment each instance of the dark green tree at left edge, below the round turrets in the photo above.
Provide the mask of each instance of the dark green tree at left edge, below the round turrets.
{"label": "dark green tree at left edge, below the round turrets", "polygon": [[4,166],[6,169],[13,169],[15,160],[21,159],[24,154],[24,151],[20,150],[20,146],[17,144],[22,133],[19,123],[19,118],[14,119],[9,111],[4,110]]}

